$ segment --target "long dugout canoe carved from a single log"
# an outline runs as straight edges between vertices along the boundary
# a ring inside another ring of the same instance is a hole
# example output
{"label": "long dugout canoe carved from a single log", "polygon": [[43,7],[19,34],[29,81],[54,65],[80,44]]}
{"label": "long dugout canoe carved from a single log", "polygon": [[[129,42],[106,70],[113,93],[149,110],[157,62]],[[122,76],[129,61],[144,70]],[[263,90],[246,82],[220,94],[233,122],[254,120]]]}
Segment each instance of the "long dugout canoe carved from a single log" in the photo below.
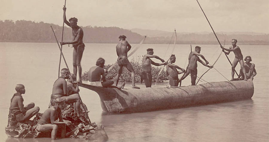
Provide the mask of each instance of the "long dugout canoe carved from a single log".
{"label": "long dugout canoe carved from a single log", "polygon": [[251,79],[209,82],[175,88],[122,89],[79,84],[98,93],[106,112],[141,112],[215,104],[250,99],[254,93]]}

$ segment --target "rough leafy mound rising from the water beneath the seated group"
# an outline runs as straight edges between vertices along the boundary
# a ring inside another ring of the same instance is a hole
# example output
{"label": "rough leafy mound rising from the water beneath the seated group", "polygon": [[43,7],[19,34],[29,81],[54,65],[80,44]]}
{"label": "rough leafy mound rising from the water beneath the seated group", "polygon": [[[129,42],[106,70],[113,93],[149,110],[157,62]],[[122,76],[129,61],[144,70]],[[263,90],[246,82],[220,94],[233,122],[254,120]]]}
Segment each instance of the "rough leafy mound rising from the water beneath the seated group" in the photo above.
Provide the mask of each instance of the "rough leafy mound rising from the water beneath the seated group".
{"label": "rough leafy mound rising from the water beneath the seated group", "polygon": [[[88,115],[87,113],[84,113]],[[29,120],[23,123],[16,123],[5,127],[5,132],[8,137],[14,138],[43,138],[51,137],[51,132],[43,133],[36,130],[37,121],[41,118],[42,114],[37,113],[33,120]],[[107,140],[108,136],[104,132],[102,125],[97,125],[89,122],[81,122],[77,117],[77,114],[74,111],[74,107],[71,104],[66,104],[62,109],[62,116],[64,120],[71,121],[71,125],[66,126],[66,138],[83,138],[85,140],[96,138],[96,131],[98,130],[100,134],[97,134],[99,137],[102,136],[102,140]],[[98,138],[100,139],[100,138]]]}

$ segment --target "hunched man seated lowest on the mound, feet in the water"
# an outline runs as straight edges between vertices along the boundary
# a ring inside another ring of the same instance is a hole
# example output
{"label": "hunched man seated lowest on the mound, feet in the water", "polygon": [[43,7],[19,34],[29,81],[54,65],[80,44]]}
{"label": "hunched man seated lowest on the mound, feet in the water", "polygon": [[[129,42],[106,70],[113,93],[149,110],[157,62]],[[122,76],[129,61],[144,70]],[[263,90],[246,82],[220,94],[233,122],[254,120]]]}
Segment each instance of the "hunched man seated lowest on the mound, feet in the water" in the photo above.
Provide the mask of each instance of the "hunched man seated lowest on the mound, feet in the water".
{"label": "hunched man seated lowest on the mound, feet in the water", "polygon": [[[62,119],[62,112],[60,107],[64,104],[62,98],[54,100],[54,106],[48,108],[38,120],[36,129],[40,132],[50,132],[51,138],[55,139],[57,132],[60,132],[61,138],[65,138],[66,126],[70,125],[71,121]],[[59,121],[56,121],[59,118]],[[59,131],[58,131],[59,130]]]}

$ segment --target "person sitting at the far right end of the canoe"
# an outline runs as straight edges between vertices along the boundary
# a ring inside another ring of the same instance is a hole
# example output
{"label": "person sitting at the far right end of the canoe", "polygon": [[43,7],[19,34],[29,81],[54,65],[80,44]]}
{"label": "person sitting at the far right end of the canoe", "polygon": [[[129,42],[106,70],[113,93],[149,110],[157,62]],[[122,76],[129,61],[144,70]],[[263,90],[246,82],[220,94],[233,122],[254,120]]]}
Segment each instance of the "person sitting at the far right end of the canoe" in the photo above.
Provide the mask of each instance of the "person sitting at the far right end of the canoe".
{"label": "person sitting at the far right end of the canoe", "polygon": [[[256,76],[256,74],[257,74],[256,69],[255,69],[255,64],[250,63],[252,61],[250,56],[246,56],[244,61],[246,61],[244,63],[244,68],[246,70],[247,79],[251,78],[253,80],[253,77]],[[238,79],[243,80],[244,78],[245,78],[244,73],[243,73],[242,69],[240,69]]]}

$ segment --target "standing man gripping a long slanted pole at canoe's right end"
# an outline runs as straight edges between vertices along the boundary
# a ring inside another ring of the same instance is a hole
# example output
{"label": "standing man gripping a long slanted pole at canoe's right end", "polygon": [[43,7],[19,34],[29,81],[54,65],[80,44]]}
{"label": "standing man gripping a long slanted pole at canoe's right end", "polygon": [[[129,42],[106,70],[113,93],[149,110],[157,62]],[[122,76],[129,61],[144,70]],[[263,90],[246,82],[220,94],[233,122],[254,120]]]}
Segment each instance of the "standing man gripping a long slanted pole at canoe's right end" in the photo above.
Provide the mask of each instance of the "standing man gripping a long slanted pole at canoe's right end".
{"label": "standing man gripping a long slanted pole at canoe's right end", "polygon": [[[244,77],[246,76],[246,70],[244,68],[243,55],[242,55],[242,52],[241,52],[239,46],[237,46],[236,43],[237,43],[237,40],[232,39],[232,46],[230,46],[229,49],[224,48],[223,46],[221,46],[222,52],[224,52],[225,54],[229,55],[230,52],[232,51],[234,53],[234,55],[235,55],[233,63],[232,63],[232,79],[230,81],[233,81],[233,79],[234,79],[233,76],[234,76],[234,72],[235,72],[235,67],[236,67],[238,62],[240,63],[240,66],[241,66],[241,69],[243,71]],[[228,52],[226,52],[224,50],[226,50]],[[245,77],[244,80],[247,80],[247,78]]]}

